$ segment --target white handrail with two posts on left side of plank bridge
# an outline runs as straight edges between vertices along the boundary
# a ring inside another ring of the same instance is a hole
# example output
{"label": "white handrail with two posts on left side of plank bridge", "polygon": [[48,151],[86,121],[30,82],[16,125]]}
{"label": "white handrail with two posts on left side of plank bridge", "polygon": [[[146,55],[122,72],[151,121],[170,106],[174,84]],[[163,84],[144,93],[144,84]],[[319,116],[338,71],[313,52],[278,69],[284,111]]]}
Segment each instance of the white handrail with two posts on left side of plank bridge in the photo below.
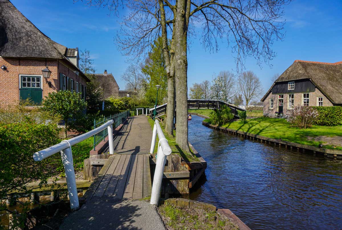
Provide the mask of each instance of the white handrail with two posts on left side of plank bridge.
{"label": "white handrail with two posts on left side of plank bridge", "polygon": [[53,146],[50,146],[49,148],[40,150],[36,152],[35,154],[33,154],[33,159],[35,161],[41,161],[49,156],[52,156],[55,153],[61,152],[62,163],[63,163],[64,171],[65,171],[65,178],[66,178],[66,183],[68,187],[68,195],[69,195],[71,210],[77,210],[80,207],[79,202],[78,202],[78,196],[77,196],[74,161],[73,161],[73,154],[71,152],[71,146],[83,140],[86,140],[87,138],[107,128],[109,153],[114,154],[113,123],[114,123],[114,120],[109,120],[108,122],[97,127],[96,129],[86,132],[80,136],[77,136],[68,140],[64,140],[59,144],[55,144]]}

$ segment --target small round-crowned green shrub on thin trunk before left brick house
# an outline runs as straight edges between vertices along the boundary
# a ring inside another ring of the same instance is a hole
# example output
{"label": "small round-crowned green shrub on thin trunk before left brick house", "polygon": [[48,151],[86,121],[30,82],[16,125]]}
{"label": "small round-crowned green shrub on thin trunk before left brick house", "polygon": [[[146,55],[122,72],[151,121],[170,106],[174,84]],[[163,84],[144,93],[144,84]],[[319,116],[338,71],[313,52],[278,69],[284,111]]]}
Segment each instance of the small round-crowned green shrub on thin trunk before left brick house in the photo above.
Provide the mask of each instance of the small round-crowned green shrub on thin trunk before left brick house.
{"label": "small round-crowned green shrub on thin trunk before left brick house", "polygon": [[[82,117],[87,102],[80,99],[80,94],[68,90],[49,93],[43,100],[43,110],[50,113],[59,114],[65,122],[65,137],[67,131],[71,129],[71,120]],[[72,124],[72,123],[71,123]]]}

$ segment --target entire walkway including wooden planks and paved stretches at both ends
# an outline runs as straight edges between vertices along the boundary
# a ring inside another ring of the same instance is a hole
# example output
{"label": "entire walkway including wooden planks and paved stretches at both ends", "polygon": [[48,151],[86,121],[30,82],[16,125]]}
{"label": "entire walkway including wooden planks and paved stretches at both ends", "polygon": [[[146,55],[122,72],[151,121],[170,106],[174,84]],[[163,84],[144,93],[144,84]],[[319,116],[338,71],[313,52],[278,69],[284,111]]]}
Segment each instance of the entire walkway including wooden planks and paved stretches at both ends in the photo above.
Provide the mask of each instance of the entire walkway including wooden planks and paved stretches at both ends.
{"label": "entire walkway including wooden planks and paved stretches at both ends", "polygon": [[151,195],[151,142],[147,117],[129,118],[114,139],[118,154],[108,158],[84,195],[86,203],[64,219],[60,230],[165,230],[156,208],[135,200]]}

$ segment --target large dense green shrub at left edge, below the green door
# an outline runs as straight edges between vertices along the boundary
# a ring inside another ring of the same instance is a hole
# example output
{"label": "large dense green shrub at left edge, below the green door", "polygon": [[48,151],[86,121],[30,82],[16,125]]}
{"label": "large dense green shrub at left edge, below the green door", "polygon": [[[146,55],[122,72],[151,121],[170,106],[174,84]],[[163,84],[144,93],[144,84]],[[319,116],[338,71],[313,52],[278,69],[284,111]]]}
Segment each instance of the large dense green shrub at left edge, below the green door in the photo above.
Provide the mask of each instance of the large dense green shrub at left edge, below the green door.
{"label": "large dense green shrub at left edge, below the green door", "polygon": [[[35,162],[32,155],[42,149],[56,144],[59,129],[56,124],[27,123],[0,123],[0,148],[1,148],[1,173],[0,173],[0,197],[6,197],[11,190],[30,194],[31,189],[26,183],[40,181],[39,185],[47,183],[53,175],[49,161]],[[49,157],[52,159],[54,156]],[[56,154],[56,157],[61,158]],[[8,197],[9,198],[9,197]],[[15,198],[16,199],[16,198]],[[3,204],[3,203],[2,203]],[[0,212],[6,209],[0,206]],[[19,226],[23,227],[23,219],[29,204],[23,204],[23,212]]]}

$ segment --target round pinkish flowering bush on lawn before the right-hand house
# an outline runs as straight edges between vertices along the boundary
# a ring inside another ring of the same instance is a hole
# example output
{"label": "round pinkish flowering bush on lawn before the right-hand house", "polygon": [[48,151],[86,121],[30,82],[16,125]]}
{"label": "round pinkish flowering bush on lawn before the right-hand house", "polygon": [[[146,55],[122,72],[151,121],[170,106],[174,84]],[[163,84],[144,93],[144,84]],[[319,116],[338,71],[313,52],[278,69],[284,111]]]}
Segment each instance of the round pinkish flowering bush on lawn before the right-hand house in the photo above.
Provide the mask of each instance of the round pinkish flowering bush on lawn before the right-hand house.
{"label": "round pinkish flowering bush on lawn before the right-hand house", "polygon": [[306,129],[314,123],[318,112],[313,107],[295,106],[286,114],[286,119],[292,125]]}

